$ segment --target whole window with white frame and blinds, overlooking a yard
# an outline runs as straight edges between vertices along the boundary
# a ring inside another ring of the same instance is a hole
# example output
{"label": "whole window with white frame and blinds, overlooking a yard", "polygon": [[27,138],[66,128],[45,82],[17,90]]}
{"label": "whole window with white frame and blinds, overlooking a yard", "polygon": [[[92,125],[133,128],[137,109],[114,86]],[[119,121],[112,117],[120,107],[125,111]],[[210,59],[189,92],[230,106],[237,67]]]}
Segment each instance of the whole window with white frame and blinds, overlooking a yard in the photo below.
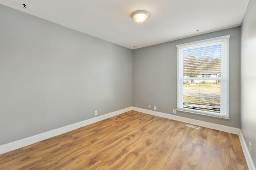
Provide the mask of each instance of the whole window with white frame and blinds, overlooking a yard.
{"label": "whole window with white frame and blinds, overlooking a yard", "polygon": [[229,119],[229,39],[177,45],[177,110]]}

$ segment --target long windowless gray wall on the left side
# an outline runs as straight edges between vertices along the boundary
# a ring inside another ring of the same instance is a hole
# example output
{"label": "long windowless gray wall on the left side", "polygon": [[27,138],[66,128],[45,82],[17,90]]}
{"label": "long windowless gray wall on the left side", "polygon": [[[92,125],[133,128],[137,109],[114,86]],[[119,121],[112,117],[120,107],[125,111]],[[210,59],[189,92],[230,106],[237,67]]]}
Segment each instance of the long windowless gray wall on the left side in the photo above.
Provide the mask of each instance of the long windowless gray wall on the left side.
{"label": "long windowless gray wall on the left side", "polygon": [[132,106],[132,50],[0,5],[0,145]]}

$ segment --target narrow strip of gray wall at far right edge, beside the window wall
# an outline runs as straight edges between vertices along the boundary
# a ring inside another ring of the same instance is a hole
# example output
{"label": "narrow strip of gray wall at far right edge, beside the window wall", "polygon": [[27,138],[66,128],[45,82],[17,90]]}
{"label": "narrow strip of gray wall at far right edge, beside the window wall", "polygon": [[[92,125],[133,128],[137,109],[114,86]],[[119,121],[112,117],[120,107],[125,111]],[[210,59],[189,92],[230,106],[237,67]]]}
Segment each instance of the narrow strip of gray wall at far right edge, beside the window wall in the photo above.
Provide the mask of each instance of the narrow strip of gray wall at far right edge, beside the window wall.
{"label": "narrow strip of gray wall at far right edge, beside the window wall", "polygon": [[[246,145],[252,143],[256,167],[256,0],[250,0],[242,22],[241,131]],[[249,148],[249,147],[248,147]]]}

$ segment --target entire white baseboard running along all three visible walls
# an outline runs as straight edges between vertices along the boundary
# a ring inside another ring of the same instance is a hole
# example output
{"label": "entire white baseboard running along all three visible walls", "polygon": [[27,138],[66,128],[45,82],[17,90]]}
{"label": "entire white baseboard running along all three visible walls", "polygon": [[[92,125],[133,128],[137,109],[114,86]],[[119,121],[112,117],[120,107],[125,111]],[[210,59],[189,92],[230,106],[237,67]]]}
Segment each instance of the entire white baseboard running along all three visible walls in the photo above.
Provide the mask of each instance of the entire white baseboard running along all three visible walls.
{"label": "entire white baseboard running along all three visible walls", "polygon": [[[161,112],[158,112],[158,111],[152,111],[152,110],[148,110],[148,109],[141,109],[141,108],[138,108],[138,107],[128,107],[128,108],[125,108],[125,109],[114,111],[114,112],[112,112],[112,114],[113,115],[119,115],[121,113],[131,111],[131,110],[140,111],[140,112],[143,112],[143,113],[148,113],[150,115],[156,115],[156,116],[159,116],[159,117],[164,117],[164,118],[167,118],[167,119],[182,121],[182,122],[185,122],[185,123],[191,123],[191,124],[198,125],[198,126],[208,127],[208,128],[216,129],[216,130],[219,130],[219,131],[234,133],[234,134],[239,136],[240,143],[242,145],[242,149],[244,151],[244,156],[246,158],[246,162],[248,164],[249,170],[256,170],[255,167],[254,167],[254,164],[252,162],[252,158],[250,156],[249,150],[248,150],[248,148],[246,146],[246,143],[244,141],[244,137],[242,135],[242,132],[238,128],[228,127],[228,126],[224,126],[224,125],[218,125],[218,124],[215,124],[215,123],[199,121],[199,120],[196,120],[196,119],[190,119],[190,118],[176,116],[176,115],[170,115],[170,114],[167,114],[167,113],[161,113]],[[84,127],[86,125],[96,123],[98,121],[102,121],[102,117],[103,116],[100,115],[98,117],[94,117],[94,118],[91,118],[91,119],[80,121],[80,122],[74,123],[72,125],[67,125],[67,126],[64,126],[64,127],[60,127],[58,129],[54,129],[52,131],[40,133],[38,135],[34,135],[34,136],[31,136],[31,137],[20,139],[18,141],[14,141],[14,142],[11,142],[11,143],[0,145],[0,154],[10,152],[10,151],[15,150],[15,149],[22,148],[22,147],[31,145],[33,143],[43,141],[45,139],[49,139],[51,137],[60,135],[62,133],[66,133],[68,131],[78,129],[78,128]]]}

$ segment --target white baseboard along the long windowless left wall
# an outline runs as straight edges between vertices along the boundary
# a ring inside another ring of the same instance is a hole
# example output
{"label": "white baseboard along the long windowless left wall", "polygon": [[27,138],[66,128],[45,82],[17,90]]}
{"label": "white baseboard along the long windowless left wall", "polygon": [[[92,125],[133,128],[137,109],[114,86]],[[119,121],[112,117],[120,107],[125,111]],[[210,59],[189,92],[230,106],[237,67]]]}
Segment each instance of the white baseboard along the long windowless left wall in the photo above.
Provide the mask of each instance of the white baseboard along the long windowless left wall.
{"label": "white baseboard along the long windowless left wall", "polygon": [[[128,107],[128,108],[121,109],[121,110],[118,110],[118,111],[114,111],[114,112],[111,112],[111,113],[113,115],[119,115],[121,113],[124,113],[124,112],[127,112],[127,111],[131,111],[131,110],[132,110],[132,107]],[[45,139],[49,139],[51,137],[60,135],[62,133],[66,133],[68,131],[72,131],[74,129],[78,129],[78,128],[84,127],[86,125],[90,125],[92,123],[96,123],[98,121],[102,121],[102,117],[103,116],[100,115],[98,117],[94,117],[94,118],[91,118],[91,119],[80,121],[78,123],[74,123],[74,124],[67,125],[67,126],[64,126],[64,127],[60,127],[58,129],[54,129],[54,130],[51,130],[51,131],[48,131],[48,132],[40,133],[38,135],[34,135],[34,136],[31,136],[31,137],[20,139],[18,141],[14,141],[14,142],[11,142],[11,143],[0,145],[0,154],[6,153],[6,152],[10,152],[10,151],[15,150],[15,149],[22,148],[22,147],[31,145],[33,143],[37,143],[37,142],[43,141]]]}

